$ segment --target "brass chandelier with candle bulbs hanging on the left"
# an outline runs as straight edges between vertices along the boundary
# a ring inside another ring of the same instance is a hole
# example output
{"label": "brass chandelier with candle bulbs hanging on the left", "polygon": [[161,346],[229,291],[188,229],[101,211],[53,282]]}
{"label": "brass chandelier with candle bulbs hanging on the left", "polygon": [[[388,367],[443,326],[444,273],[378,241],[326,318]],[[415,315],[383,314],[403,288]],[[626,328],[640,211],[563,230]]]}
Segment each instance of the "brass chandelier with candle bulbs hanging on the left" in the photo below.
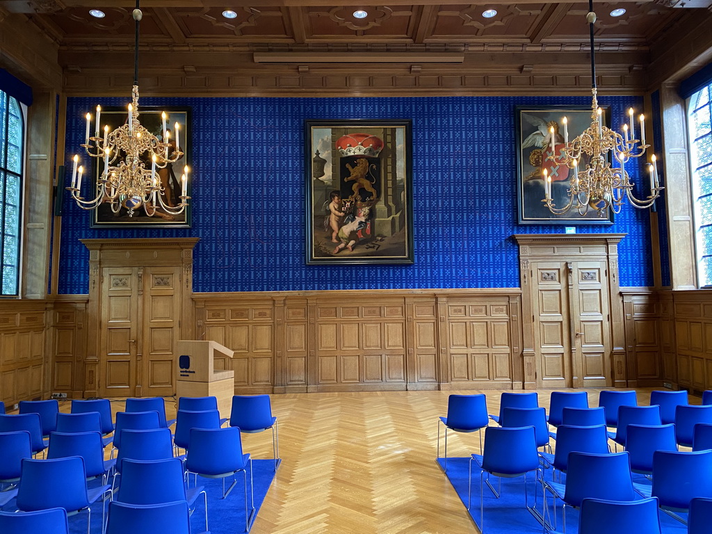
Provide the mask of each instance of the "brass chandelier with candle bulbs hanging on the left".
{"label": "brass chandelier with candle bulbs hanging on the left", "polygon": [[[103,137],[100,136],[101,106],[96,107],[95,135],[90,137],[91,114],[86,114],[86,131],[83,145],[90,157],[103,159],[103,171],[97,180],[96,197],[90,200],[81,196],[82,175],[84,168],[78,167],[79,157],[73,157],[72,182],[67,187],[73,199],[82,209],[97,209],[101,204],[108,203],[111,211],[117,214],[122,208],[132,217],[136,210],[143,208],[147,216],[154,216],[159,209],[169,215],[182,213],[190,197],[187,196],[188,167],[184,168],[181,177],[180,202],[176,206],[170,201],[164,201],[165,192],[159,180],[156,169],[164,169],[173,164],[183,152],[180,150],[179,124],[175,123],[175,142],[170,140],[170,130],[167,129],[165,112],[162,117],[162,137],[147,130],[139,122],[138,108],[138,36],[139,22],[143,17],[139,1],[133,11],[135,21],[135,53],[134,53],[134,85],[131,91],[132,102],[128,105],[128,116],[125,124],[112,132],[106,125]],[[184,133],[185,135],[185,133]],[[98,163],[98,162],[97,162]],[[150,168],[147,166],[150,164]]]}

